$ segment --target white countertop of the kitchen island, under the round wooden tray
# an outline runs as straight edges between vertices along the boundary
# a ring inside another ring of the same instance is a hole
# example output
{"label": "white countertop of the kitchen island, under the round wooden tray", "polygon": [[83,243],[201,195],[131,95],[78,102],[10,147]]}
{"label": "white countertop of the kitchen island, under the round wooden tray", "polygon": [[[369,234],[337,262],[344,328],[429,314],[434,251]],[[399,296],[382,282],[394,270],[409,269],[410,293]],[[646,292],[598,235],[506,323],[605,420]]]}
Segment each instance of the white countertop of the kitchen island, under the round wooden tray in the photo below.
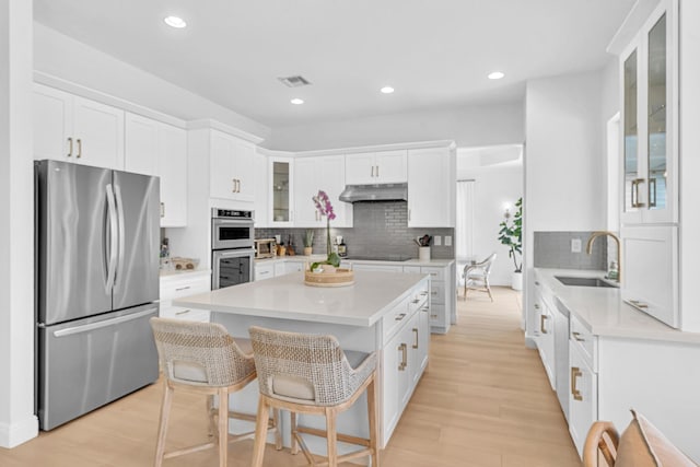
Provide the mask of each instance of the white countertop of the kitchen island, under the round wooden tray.
{"label": "white countertop of the kitchen island, under the round wooden tray", "polygon": [[293,272],[174,300],[173,305],[370,327],[427,277],[375,271],[355,271],[354,275],[353,285],[320,288],[305,285],[303,272]]}

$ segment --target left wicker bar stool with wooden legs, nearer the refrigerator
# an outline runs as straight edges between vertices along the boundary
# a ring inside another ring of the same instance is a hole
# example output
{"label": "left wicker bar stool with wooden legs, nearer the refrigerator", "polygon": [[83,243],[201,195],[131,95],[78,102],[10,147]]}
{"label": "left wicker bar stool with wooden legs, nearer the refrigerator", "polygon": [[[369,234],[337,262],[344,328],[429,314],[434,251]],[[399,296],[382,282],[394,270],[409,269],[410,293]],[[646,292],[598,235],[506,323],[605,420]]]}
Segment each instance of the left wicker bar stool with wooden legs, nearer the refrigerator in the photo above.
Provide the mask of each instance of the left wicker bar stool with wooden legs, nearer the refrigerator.
{"label": "left wicker bar stool with wooden legs, nearer the refrigerator", "polygon": [[[255,432],[229,434],[229,418],[256,421],[255,416],[229,410],[229,394],[243,389],[256,378],[255,362],[248,339],[235,340],[226,329],[213,323],[197,323],[183,319],[151,318],[151,328],[158,348],[161,367],[165,376],[165,390],[161,405],[158,443],[154,465],[163,459],[190,454],[219,446],[219,465],[224,467],[230,442],[253,437]],[[211,442],[165,452],[165,436],[171,415],[173,390],[185,388],[208,396],[207,411]],[[213,407],[213,396],[219,396],[219,409]],[[218,422],[214,419],[218,418]],[[276,447],[282,448],[278,429],[279,410],[262,416],[262,424],[276,431]]]}

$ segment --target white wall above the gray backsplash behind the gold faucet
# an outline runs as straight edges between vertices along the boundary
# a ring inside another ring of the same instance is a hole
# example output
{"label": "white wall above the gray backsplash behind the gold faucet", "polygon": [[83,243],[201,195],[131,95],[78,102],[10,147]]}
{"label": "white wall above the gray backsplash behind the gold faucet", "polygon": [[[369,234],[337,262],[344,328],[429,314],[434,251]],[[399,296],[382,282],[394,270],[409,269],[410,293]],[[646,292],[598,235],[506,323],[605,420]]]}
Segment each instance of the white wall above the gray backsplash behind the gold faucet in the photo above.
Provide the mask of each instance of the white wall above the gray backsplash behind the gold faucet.
{"label": "white wall above the gray backsplash behind the gold faucet", "polygon": [[[533,232],[605,227],[603,83],[602,71],[527,83],[524,310],[532,296]],[[533,326],[528,322],[527,329]]]}

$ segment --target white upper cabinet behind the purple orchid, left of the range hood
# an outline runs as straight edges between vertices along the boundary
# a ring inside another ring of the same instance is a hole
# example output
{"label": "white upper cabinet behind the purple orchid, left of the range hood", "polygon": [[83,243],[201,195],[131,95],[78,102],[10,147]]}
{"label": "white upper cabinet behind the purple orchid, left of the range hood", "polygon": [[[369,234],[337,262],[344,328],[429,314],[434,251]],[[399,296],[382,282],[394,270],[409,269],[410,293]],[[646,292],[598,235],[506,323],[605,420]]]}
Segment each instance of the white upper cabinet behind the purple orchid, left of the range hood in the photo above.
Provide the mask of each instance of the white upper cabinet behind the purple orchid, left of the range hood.
{"label": "white upper cabinet behind the purple orchid, left of the range hood", "polygon": [[352,226],[352,205],[338,199],[346,186],[346,159],[342,155],[299,157],[294,161],[294,225],[323,227],[326,218],[320,215],[312,198],[324,190],[336,213],[335,227]]}

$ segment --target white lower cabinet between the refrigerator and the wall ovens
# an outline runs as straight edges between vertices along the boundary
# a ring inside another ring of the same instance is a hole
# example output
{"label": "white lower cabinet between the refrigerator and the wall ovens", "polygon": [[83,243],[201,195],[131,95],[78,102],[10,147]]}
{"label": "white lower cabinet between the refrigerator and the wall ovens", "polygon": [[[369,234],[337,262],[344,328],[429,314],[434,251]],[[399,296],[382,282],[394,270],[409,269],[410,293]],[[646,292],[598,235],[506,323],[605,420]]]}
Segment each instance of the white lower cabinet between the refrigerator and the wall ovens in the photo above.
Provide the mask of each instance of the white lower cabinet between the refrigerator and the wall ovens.
{"label": "white lower cabinet between the refrigerator and the wall ovens", "polygon": [[161,300],[159,316],[164,318],[209,322],[209,311],[173,306],[173,300],[188,295],[209,292],[211,290],[211,272],[183,272],[161,277]]}

